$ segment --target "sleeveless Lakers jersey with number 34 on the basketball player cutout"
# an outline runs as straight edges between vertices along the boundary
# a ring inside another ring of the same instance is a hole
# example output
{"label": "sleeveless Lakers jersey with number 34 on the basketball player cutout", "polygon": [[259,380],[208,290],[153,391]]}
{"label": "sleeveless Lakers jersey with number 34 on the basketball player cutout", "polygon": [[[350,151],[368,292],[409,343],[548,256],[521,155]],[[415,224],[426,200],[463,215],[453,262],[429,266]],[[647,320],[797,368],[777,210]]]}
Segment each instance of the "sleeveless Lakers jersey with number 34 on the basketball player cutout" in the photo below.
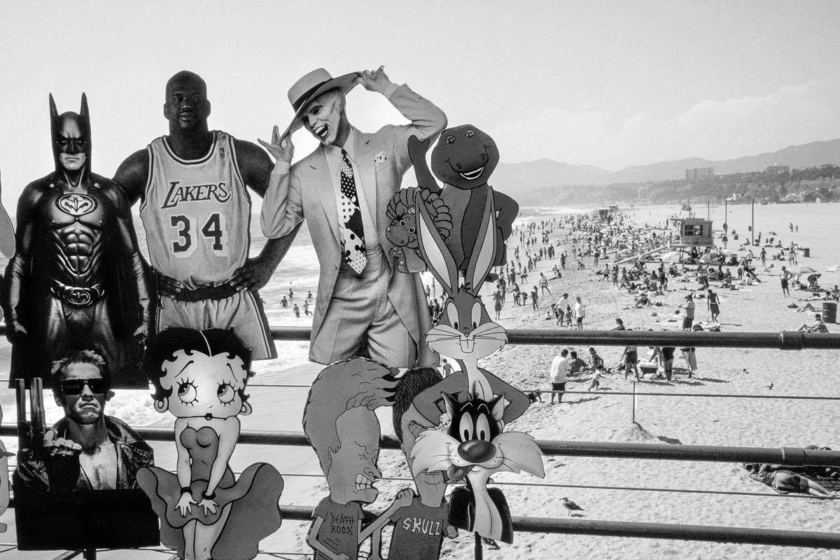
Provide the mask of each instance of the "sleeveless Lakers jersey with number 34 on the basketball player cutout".
{"label": "sleeveless Lakers jersey with number 34 on the basketball player cutout", "polygon": [[152,266],[187,288],[219,285],[248,258],[251,202],[234,138],[213,131],[199,160],[181,160],[165,136],[149,144],[140,206]]}

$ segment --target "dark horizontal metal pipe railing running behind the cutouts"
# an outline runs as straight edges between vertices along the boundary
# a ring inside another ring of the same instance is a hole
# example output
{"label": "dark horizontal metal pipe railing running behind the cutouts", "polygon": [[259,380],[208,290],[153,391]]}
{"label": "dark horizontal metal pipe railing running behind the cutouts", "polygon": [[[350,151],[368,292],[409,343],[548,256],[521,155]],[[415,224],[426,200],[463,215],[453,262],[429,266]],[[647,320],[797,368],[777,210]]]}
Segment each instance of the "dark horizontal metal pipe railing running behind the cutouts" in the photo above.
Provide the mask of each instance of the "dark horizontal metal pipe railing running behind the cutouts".
{"label": "dark horizontal metal pipe railing running behind the cutouts", "polygon": [[[5,329],[0,327],[0,335]],[[308,341],[310,329],[305,327],[271,327],[278,341]],[[522,329],[508,332],[508,343],[553,346],[673,346],[718,348],[769,348],[779,350],[840,349],[840,334],[806,332],[663,332],[663,331],[558,331]],[[255,385],[256,386],[256,385]],[[301,385],[301,388],[306,385]],[[651,395],[658,395],[652,393]],[[662,394],[668,395],[668,394]],[[733,395],[694,395],[686,397],[713,398]],[[737,396],[737,395],[735,395]],[[743,395],[750,397],[753,395]],[[779,398],[773,395],[774,398]],[[795,398],[795,397],[793,397]],[[804,398],[804,397],[803,397]],[[834,398],[834,397],[822,397]],[[171,442],[171,429],[139,428],[137,432],[149,441]],[[17,427],[3,425],[0,436],[17,436]],[[272,446],[308,446],[303,432],[246,431],[239,443]],[[648,459],[670,461],[707,461],[721,463],[776,463],[787,466],[840,467],[840,452],[800,447],[738,447],[669,445],[624,442],[579,442],[538,440],[546,455],[568,457],[596,457],[617,459]],[[398,449],[396,437],[381,439],[384,449]],[[291,475],[295,476],[295,475]],[[646,489],[641,489],[646,490]],[[680,491],[680,490],[674,490]],[[701,490],[690,490],[700,492]],[[282,505],[288,520],[308,521],[312,507]],[[677,539],[686,541],[731,542],[753,545],[811,547],[840,550],[840,533],[817,531],[784,531],[732,526],[701,526],[631,521],[603,521],[545,517],[515,517],[516,531],[562,533],[591,536],[622,536],[635,538]],[[5,552],[5,551],[0,551]],[[90,556],[86,552],[86,557]],[[270,552],[265,552],[270,554]]]}

